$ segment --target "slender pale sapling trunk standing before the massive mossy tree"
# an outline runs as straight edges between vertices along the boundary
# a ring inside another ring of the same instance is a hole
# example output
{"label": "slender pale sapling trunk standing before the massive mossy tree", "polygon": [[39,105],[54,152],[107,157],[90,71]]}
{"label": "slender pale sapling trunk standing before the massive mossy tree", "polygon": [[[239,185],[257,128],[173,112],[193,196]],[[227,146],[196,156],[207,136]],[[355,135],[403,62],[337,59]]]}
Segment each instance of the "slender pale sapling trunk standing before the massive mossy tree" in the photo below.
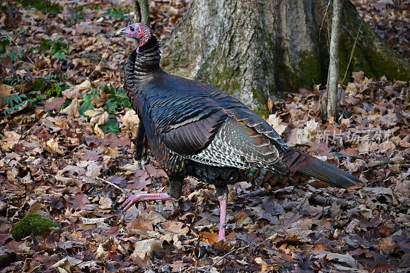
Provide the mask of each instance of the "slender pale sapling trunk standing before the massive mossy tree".
{"label": "slender pale sapling trunk standing before the massive mossy tree", "polygon": [[336,120],[337,84],[339,82],[339,40],[341,0],[333,0],[332,36],[330,39],[329,85],[327,86],[327,118]]}

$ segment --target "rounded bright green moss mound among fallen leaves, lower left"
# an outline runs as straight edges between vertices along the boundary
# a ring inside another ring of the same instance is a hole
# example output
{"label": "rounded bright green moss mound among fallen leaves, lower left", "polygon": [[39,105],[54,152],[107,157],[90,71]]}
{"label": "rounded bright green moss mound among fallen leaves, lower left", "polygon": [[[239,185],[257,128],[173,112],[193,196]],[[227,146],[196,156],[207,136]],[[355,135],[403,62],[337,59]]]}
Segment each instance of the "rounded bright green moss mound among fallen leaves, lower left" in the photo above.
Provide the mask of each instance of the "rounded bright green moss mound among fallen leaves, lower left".
{"label": "rounded bright green moss mound among fallen leaves, lower left", "polygon": [[49,232],[51,226],[58,227],[58,224],[39,214],[30,213],[17,222],[11,235],[18,241],[30,235],[38,236]]}

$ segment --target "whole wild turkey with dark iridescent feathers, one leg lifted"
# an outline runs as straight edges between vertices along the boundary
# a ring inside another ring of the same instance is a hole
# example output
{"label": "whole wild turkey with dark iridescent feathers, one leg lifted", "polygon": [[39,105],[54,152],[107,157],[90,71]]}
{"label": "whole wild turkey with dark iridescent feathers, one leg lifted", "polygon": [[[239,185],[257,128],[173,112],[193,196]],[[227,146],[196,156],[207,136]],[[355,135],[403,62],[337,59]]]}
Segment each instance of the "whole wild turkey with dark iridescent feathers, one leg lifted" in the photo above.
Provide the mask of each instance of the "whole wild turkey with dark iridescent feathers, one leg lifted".
{"label": "whole wild turkey with dark iridescent feathers, one leg lifted", "polygon": [[220,241],[226,240],[228,183],[246,180],[276,189],[312,176],[336,187],[362,184],[333,165],[289,148],[265,120],[227,93],[164,72],[158,40],[146,25],[131,24],[116,34],[139,43],[124,68],[124,87],[140,118],[137,159],[149,146],[170,180],[167,193],[134,194],[124,202],[125,210],[138,201],[179,199],[183,179],[191,175],[216,187]]}

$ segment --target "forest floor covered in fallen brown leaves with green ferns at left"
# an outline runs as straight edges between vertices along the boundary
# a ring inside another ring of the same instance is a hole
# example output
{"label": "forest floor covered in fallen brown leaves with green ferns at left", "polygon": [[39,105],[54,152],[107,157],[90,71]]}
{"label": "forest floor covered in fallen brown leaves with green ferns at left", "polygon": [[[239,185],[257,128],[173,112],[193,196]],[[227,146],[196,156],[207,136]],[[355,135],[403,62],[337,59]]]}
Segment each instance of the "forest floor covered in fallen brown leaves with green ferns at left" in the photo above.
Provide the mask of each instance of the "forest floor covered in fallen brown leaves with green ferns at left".
{"label": "forest floor covered in fallen brown leaves with green ferns at left", "polygon": [[[187,2],[150,1],[158,37]],[[168,181],[155,162],[142,168],[134,158],[138,118],[121,89],[133,44],[113,36],[131,2],[27,3],[0,6],[1,272],[203,272],[229,251],[208,272],[408,270],[408,82],[354,73],[338,123],[320,120],[321,86],[282,93],[266,118],[285,141],[367,185],[340,190],[311,181],[267,193],[237,183],[229,240],[215,243],[215,188],[194,178],[177,202],[121,209],[132,193],[163,192]],[[410,1],[400,10],[366,3],[355,1],[360,14],[408,59]],[[61,228],[13,239],[10,229],[29,213]]]}

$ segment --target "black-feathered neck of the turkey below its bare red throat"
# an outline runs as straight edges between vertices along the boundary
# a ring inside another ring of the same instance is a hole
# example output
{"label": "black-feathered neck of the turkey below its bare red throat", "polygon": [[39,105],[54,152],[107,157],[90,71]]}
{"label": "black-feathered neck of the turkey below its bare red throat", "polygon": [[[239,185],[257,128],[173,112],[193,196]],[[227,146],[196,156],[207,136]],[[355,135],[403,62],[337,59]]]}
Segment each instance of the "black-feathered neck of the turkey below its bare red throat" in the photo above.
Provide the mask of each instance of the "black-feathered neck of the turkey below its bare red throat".
{"label": "black-feathered neck of the turkey below its bare red throat", "polygon": [[[161,52],[159,51],[158,40],[152,36],[147,43],[139,46],[135,51],[134,79],[147,80],[150,76],[160,70],[159,61]],[[138,52],[138,53],[137,53]]]}

